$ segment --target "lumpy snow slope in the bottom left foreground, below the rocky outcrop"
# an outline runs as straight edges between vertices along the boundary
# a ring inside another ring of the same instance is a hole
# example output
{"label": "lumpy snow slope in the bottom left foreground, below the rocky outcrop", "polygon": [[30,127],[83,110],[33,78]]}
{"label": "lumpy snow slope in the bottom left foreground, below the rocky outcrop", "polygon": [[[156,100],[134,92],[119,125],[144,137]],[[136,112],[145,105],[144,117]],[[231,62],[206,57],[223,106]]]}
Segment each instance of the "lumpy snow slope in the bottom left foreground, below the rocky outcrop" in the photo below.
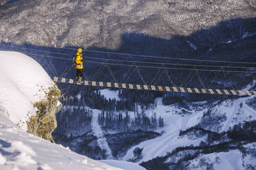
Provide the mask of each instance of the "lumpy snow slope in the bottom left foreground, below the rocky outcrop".
{"label": "lumpy snow slope in the bottom left foreground, below the rocky outcrop", "polygon": [[118,170],[28,134],[0,112],[0,169],[105,169]]}

